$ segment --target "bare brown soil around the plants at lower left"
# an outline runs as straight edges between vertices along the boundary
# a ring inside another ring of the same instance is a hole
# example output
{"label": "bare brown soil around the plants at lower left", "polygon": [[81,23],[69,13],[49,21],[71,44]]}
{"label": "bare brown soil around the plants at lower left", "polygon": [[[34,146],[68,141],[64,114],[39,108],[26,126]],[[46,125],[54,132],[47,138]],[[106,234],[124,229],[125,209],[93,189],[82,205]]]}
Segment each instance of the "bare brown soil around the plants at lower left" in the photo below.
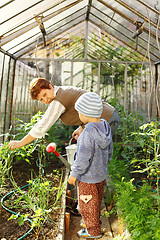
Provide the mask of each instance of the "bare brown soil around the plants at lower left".
{"label": "bare brown soil around the plants at lower left", "polygon": [[[51,181],[54,181],[54,182],[56,181],[58,186],[60,179],[57,179],[57,175],[56,176],[54,175],[53,170],[56,169],[61,171],[63,168],[64,167],[62,166],[62,164],[56,160],[56,165],[54,162],[52,162],[48,167],[45,168],[45,177],[49,178],[49,180]],[[12,174],[18,187],[22,187],[28,184],[27,181],[31,179],[32,170],[34,170],[35,175],[38,175],[39,169],[34,160],[32,160],[31,165],[24,160],[18,161],[17,163],[14,164]],[[65,168],[64,168],[64,172],[65,172]],[[7,193],[10,193],[12,190],[14,190],[13,185],[9,181],[9,179],[7,179],[7,186],[3,189],[3,193],[1,194],[1,197],[5,196]],[[27,191],[27,188],[25,191]],[[4,204],[6,205],[5,201],[4,201]],[[13,211],[17,212],[19,210],[13,209]],[[36,236],[36,232],[31,231],[31,233],[28,234],[25,237],[25,239],[26,240],[56,239],[60,213],[61,213],[61,208],[54,210],[54,212],[50,214],[51,221],[46,221],[43,224],[42,230],[40,231],[39,235]],[[0,240],[22,239],[23,236],[26,235],[26,233],[31,229],[28,221],[26,221],[22,226],[19,226],[17,219],[8,220],[10,216],[11,216],[11,213],[6,211],[2,206],[0,206],[0,226],[1,226]]]}

